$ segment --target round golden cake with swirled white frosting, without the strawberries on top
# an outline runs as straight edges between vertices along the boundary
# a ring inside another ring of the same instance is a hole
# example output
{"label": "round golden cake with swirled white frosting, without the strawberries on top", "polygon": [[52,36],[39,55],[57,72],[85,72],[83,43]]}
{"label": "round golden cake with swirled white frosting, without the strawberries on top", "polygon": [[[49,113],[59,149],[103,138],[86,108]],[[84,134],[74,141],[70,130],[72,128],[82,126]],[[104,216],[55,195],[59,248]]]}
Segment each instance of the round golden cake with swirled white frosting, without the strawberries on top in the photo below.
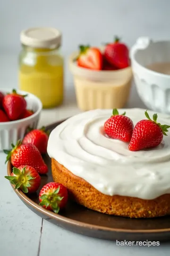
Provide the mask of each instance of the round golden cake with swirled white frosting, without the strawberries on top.
{"label": "round golden cake with swirled white frosting, without the strawberries on top", "polygon": [[[126,109],[134,125],[143,109]],[[155,148],[132,152],[104,133],[112,110],[91,110],[52,130],[48,141],[52,177],[85,207],[106,214],[152,218],[170,214],[170,136]],[[150,115],[153,111],[148,111]],[[170,116],[159,114],[161,124]]]}

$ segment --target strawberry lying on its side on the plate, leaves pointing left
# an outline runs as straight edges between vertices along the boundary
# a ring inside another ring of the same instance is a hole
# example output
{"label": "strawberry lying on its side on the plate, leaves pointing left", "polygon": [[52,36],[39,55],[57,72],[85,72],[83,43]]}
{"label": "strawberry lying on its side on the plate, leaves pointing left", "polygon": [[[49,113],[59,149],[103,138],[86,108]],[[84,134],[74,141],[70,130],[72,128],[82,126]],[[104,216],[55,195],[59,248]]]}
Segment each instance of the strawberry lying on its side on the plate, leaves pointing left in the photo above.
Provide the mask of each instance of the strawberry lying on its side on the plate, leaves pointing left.
{"label": "strawberry lying on its side on the plate, leaves pointing left", "polygon": [[11,160],[11,163],[15,167],[20,165],[29,165],[35,168],[39,174],[48,173],[48,167],[44,163],[42,156],[38,148],[32,144],[21,144],[21,141],[17,141],[17,145],[12,144],[13,149],[11,151],[4,150],[4,153],[7,154],[7,159]]}

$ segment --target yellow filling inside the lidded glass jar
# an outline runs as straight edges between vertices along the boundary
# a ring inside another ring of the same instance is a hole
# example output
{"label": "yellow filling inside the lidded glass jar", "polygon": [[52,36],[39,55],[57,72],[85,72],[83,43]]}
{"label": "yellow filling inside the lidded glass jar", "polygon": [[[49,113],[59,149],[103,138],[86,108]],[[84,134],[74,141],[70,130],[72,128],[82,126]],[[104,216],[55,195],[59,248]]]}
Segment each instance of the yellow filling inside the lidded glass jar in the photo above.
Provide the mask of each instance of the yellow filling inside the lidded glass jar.
{"label": "yellow filling inside the lidded glass jar", "polygon": [[27,53],[22,59],[20,89],[36,95],[42,101],[43,108],[59,106],[63,101],[63,58],[48,55],[48,51],[47,55],[36,55],[36,52]]}

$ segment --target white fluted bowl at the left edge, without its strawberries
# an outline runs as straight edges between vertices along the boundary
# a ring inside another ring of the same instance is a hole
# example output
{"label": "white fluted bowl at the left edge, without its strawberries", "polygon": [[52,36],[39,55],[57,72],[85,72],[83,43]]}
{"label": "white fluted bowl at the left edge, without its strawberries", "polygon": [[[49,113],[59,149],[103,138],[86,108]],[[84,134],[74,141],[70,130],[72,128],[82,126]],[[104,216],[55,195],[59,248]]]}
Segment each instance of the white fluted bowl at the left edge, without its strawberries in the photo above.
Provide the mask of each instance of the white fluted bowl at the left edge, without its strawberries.
{"label": "white fluted bowl at the left edge, without its strawberries", "polygon": [[[9,92],[5,90],[0,91],[2,91],[4,94]],[[26,108],[33,110],[34,114],[25,119],[0,123],[0,150],[11,149],[11,143],[15,145],[18,139],[23,139],[26,133],[26,128],[36,128],[40,118],[42,102],[39,100],[39,98],[26,91],[17,90],[17,92],[23,95],[28,95],[25,98],[27,103]]]}

